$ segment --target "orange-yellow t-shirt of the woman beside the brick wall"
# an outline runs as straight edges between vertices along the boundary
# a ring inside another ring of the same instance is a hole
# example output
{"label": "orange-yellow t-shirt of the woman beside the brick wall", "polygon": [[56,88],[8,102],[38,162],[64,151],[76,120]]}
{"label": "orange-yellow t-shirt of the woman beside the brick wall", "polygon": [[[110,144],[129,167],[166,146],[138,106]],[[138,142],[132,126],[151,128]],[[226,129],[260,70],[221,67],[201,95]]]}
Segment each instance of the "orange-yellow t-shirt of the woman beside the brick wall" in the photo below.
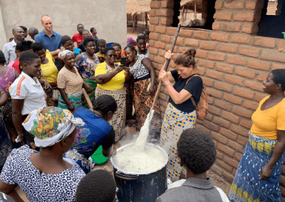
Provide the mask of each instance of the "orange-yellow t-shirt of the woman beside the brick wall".
{"label": "orange-yellow t-shirt of the woman beside the brick wall", "polygon": [[259,102],[259,107],[252,115],[250,132],[267,139],[277,139],[277,129],[285,130],[285,98],[268,110],[261,110],[261,105],[269,98]]}

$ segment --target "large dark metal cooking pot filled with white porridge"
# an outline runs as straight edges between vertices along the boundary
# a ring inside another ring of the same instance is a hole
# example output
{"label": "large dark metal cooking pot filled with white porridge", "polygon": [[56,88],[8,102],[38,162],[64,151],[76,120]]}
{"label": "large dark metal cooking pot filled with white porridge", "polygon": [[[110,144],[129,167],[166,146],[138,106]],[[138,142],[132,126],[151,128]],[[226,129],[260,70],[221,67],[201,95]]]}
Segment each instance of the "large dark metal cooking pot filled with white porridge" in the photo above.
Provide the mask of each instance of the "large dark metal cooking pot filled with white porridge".
{"label": "large dark metal cooking pot filled with white porridge", "polygon": [[[132,145],[133,143],[120,147],[117,152]],[[159,149],[162,154],[165,154],[165,164],[156,171],[150,171],[143,174],[123,171],[115,165],[115,156],[112,156],[110,159],[114,166],[114,177],[118,188],[117,198],[119,202],[155,202],[156,198],[167,190],[167,153],[164,149],[155,146],[154,144],[147,145],[155,147]]]}

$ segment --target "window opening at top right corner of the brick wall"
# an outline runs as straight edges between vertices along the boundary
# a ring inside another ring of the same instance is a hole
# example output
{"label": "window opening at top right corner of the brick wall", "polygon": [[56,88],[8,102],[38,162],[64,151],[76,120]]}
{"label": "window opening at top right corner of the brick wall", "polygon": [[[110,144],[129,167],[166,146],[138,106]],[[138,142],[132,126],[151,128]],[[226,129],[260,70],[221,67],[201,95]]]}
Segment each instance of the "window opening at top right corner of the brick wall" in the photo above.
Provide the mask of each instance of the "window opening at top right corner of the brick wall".
{"label": "window opening at top right corner of the brick wall", "polygon": [[284,38],[285,0],[264,0],[258,36]]}

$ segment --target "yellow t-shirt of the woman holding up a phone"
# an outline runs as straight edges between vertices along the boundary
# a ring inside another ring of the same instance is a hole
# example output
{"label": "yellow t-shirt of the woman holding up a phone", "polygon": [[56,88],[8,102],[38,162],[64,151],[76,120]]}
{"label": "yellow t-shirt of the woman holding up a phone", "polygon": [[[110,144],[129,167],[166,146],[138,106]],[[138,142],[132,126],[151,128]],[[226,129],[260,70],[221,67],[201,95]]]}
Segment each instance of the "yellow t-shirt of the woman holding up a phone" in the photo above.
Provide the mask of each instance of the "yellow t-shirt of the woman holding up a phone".
{"label": "yellow t-shirt of the woman holding up a phone", "polygon": [[[118,63],[115,63],[115,66],[118,67]],[[95,76],[103,75],[105,73],[110,73],[114,69],[110,68],[106,62],[100,63],[96,70]],[[125,83],[125,70],[122,70],[120,73],[116,74],[108,83],[97,84],[103,90],[120,90]]]}

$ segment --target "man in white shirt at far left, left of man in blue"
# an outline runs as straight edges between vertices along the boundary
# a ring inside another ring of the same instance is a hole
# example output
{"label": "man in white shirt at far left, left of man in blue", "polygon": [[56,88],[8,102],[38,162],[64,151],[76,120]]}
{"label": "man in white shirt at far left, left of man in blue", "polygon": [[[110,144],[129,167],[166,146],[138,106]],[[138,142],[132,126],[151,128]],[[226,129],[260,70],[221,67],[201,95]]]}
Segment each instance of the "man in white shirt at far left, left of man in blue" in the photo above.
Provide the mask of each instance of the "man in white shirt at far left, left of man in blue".
{"label": "man in white shirt at far left, left of man in blue", "polygon": [[14,35],[14,40],[6,43],[3,47],[3,53],[5,55],[6,63],[5,65],[8,65],[12,60],[16,60],[17,55],[15,53],[16,45],[19,41],[22,41],[25,39],[24,30],[21,27],[15,27],[12,30]]}

